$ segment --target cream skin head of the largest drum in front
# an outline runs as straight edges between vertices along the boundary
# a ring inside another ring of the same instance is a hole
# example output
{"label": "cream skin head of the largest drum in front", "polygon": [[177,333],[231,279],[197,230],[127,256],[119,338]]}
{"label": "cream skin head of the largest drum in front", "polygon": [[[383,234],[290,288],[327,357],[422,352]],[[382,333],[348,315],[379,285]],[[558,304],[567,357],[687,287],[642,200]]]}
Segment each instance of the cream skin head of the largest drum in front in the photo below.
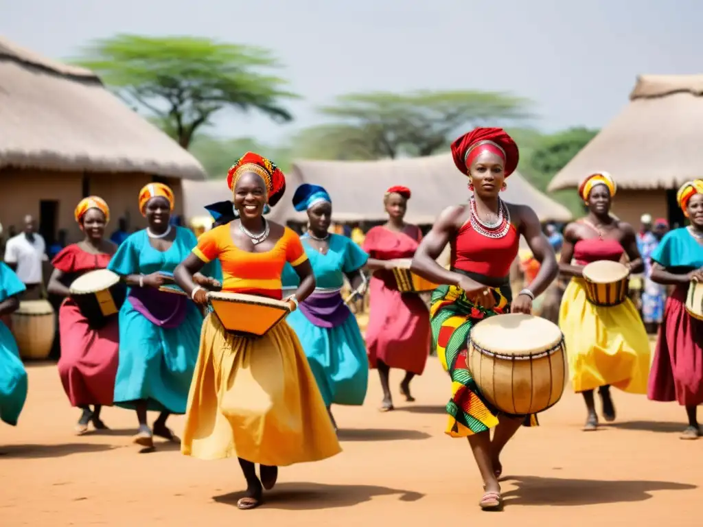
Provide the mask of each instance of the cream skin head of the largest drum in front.
{"label": "cream skin head of the largest drum in front", "polygon": [[556,346],[563,335],[546,318],[524,313],[495,315],[477,323],[470,341],[479,348],[506,356],[527,356]]}

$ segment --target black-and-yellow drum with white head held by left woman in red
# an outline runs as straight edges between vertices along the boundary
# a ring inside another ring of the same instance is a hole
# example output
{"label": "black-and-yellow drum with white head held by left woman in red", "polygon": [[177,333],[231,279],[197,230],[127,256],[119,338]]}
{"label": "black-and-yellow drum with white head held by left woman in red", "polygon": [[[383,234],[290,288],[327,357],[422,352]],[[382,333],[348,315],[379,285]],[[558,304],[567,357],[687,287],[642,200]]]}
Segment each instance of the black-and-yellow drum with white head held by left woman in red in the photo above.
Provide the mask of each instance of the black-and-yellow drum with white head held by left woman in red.
{"label": "black-and-yellow drum with white head held by left woman in red", "polygon": [[103,327],[108,318],[120,311],[127,298],[127,287],[120,281],[120,275],[109,269],[79,276],[73,280],[69,291],[91,327]]}

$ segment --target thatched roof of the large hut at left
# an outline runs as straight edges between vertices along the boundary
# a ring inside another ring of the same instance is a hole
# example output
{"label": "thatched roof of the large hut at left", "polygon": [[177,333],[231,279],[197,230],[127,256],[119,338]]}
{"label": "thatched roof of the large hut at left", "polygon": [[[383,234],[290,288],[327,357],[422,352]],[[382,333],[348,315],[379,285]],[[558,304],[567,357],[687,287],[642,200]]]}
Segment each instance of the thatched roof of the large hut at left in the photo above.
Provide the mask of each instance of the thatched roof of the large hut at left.
{"label": "thatched roof of the large hut at left", "polygon": [[0,37],[0,169],[205,177],[190,153],[82,67]]}

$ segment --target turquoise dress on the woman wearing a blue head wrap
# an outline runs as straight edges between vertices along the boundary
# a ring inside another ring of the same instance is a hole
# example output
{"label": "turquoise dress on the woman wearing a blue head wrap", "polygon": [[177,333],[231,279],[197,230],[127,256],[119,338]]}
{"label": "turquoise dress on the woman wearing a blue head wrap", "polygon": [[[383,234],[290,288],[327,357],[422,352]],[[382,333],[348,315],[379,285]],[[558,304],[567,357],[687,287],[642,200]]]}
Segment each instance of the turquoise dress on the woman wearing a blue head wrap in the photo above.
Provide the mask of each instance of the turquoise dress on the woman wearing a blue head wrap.
{"label": "turquoise dress on the woman wearing a blue head wrap", "polygon": [[[334,297],[336,309],[325,307],[326,312],[336,311],[335,320],[330,323],[334,327],[321,327],[321,321],[304,305],[307,301],[301,302],[286,322],[305,350],[325,405],[361,405],[368,385],[366,344],[354,314],[342,301],[340,289],[344,285],[344,273],[363,267],[368,254],[349,238],[337,234],[330,234],[327,254],[311,247],[306,236],[302,237],[302,242],[317,282],[311,302],[314,297]],[[283,269],[282,281],[286,289],[299,284],[297,273],[288,264]]]}

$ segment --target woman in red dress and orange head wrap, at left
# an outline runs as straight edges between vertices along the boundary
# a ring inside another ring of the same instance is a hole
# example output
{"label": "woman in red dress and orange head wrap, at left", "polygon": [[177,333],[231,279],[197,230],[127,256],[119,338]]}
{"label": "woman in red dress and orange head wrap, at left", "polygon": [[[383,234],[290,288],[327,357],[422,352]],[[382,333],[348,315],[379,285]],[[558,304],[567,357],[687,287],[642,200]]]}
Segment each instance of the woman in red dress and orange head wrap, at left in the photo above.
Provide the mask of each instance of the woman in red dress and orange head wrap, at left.
{"label": "woman in red dress and orange head wrap, at left", "polygon": [[115,315],[105,320],[102,327],[91,327],[69,291],[71,282],[80,275],[106,268],[117,250],[114,243],[103,238],[110,221],[108,204],[97,196],[86,197],[79,202],[74,217],[85,238],[54,256],[47,289],[65,298],[58,311],[58,375],[68,401],[83,410],[75,427],[76,434],[82,435],[88,431],[89,423],[96,430],[107,429],[100,419],[100,410],[103,405],[112,405],[115,394],[120,326]]}

